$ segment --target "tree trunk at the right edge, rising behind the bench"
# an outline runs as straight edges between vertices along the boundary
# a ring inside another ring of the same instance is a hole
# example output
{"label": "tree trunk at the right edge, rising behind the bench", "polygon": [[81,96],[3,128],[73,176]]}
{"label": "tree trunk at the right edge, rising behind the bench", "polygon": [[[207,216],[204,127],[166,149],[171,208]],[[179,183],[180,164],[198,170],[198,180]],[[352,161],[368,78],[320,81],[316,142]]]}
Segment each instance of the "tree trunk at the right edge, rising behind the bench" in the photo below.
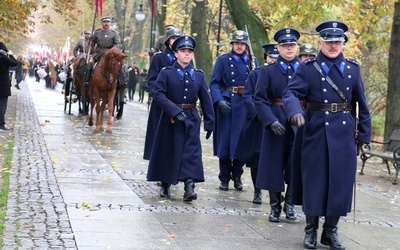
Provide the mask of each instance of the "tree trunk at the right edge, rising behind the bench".
{"label": "tree trunk at the right edge, rising behind the bench", "polygon": [[387,88],[385,140],[400,124],[400,1],[395,3],[389,49],[389,77]]}

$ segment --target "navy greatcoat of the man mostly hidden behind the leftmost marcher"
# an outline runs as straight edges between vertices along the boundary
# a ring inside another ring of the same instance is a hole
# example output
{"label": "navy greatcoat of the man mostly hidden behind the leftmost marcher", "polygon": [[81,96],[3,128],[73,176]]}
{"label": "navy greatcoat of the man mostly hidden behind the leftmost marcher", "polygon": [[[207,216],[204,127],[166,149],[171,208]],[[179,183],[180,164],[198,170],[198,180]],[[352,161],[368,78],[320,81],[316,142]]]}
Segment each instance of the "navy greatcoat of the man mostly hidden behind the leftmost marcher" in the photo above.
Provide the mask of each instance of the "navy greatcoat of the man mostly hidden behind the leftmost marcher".
{"label": "navy greatcoat of the man mostly hidden behind the leftmost marcher", "polygon": [[[155,89],[155,82],[158,73],[162,68],[171,66],[175,62],[174,52],[170,47],[165,48],[163,52],[154,54],[150,68],[147,73],[147,83],[149,87],[149,93],[153,93]],[[146,139],[144,143],[143,159],[149,160],[151,149],[153,147],[154,133],[157,129],[158,119],[160,118],[161,108],[156,103],[152,103],[149,112],[149,118],[147,120]]]}

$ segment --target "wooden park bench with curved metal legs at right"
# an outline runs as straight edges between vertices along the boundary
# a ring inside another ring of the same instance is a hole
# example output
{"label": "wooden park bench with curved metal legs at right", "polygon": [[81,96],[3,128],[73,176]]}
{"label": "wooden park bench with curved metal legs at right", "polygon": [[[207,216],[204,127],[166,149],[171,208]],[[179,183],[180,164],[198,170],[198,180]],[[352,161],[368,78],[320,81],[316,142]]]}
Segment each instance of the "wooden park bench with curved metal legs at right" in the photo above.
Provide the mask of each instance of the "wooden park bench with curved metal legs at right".
{"label": "wooden park bench with curved metal legs at right", "polygon": [[362,168],[360,174],[364,174],[365,162],[369,158],[374,156],[379,157],[383,162],[385,162],[389,174],[391,174],[389,162],[393,164],[393,167],[396,170],[393,184],[396,185],[400,169],[400,146],[394,147],[393,144],[395,142],[400,142],[400,129],[394,130],[388,141],[379,142],[371,140],[369,145],[365,144],[361,149],[360,158],[362,160]]}

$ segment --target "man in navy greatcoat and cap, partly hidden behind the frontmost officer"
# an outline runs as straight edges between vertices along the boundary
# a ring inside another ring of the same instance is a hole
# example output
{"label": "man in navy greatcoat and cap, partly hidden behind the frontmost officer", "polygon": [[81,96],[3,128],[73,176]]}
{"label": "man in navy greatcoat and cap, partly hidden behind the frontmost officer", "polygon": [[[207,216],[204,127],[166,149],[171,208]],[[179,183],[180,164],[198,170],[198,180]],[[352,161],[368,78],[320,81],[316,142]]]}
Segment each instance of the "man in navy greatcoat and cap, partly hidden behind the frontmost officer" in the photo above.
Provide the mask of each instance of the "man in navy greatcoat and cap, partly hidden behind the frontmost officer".
{"label": "man in navy greatcoat and cap, partly hidden behind the frontmost officer", "polygon": [[261,67],[255,89],[254,103],[264,127],[256,186],[269,190],[270,222],[280,221],[281,192],[285,191],[285,183],[288,187],[283,211],[286,219],[297,218],[291,201],[289,171],[294,131],[283,109],[282,93],[300,65],[296,56],[299,37],[300,33],[292,28],[283,28],[275,33],[279,57],[276,62]]}

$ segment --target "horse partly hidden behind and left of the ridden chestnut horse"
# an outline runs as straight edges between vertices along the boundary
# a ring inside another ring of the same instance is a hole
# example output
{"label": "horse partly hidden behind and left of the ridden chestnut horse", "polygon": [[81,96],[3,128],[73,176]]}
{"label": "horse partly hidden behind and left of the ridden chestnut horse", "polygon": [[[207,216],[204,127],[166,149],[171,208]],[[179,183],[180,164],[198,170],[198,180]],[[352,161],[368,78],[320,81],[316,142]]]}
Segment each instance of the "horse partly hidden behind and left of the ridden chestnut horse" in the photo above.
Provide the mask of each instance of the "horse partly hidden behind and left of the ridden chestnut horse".
{"label": "horse partly hidden behind and left of the ridden chestnut horse", "polygon": [[85,88],[83,81],[85,79],[86,59],[83,55],[76,57],[73,61],[73,83],[75,93],[78,98],[79,114],[88,115],[89,111],[89,89]]}

